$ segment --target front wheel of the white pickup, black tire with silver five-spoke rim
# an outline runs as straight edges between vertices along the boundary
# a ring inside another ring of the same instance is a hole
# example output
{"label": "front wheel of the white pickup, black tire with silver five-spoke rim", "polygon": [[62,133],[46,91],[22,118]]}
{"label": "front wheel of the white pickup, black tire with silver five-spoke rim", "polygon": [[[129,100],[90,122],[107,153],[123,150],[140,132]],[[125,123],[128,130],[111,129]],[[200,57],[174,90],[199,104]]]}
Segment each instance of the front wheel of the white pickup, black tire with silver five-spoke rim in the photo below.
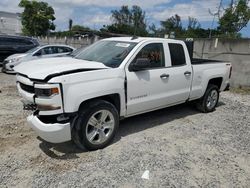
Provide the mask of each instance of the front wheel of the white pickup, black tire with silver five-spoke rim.
{"label": "front wheel of the white pickup, black tire with silver five-spoke rim", "polygon": [[72,128],[72,139],[81,149],[97,150],[109,145],[119,127],[113,104],[95,100],[83,105]]}

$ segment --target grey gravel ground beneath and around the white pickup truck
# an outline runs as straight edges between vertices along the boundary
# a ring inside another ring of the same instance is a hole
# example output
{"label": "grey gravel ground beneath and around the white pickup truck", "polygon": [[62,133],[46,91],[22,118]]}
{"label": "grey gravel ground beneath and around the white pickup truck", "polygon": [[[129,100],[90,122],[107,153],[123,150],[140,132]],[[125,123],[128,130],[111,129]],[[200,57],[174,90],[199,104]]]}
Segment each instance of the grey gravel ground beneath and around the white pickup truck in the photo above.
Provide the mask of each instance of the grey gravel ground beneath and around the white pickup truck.
{"label": "grey gravel ground beneath and around the white pickup truck", "polygon": [[0,90],[0,187],[250,187],[250,95],[123,120],[114,143],[87,152],[37,138],[13,75],[0,73]]}

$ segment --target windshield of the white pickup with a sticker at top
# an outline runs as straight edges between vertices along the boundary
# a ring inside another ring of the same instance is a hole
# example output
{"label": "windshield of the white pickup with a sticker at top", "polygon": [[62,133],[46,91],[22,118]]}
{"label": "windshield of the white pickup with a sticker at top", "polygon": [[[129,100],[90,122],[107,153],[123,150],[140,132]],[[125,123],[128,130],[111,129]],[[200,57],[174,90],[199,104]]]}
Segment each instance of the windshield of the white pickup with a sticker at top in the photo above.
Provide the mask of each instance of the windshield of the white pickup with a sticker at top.
{"label": "windshield of the white pickup with a sticker at top", "polygon": [[108,67],[118,67],[136,44],[134,42],[99,41],[83,49],[75,58],[101,62]]}

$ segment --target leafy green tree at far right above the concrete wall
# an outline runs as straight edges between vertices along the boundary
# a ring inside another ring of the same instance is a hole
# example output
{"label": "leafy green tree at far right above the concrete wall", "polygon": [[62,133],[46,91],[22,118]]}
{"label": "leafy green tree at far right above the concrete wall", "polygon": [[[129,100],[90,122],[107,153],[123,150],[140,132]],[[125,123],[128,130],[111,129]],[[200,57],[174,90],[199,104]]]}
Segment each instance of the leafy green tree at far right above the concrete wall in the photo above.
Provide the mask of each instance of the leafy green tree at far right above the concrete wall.
{"label": "leafy green tree at far right above the concrete wall", "polygon": [[218,30],[227,37],[239,37],[238,32],[247,26],[250,20],[248,0],[239,0],[235,6],[230,6],[219,18]]}

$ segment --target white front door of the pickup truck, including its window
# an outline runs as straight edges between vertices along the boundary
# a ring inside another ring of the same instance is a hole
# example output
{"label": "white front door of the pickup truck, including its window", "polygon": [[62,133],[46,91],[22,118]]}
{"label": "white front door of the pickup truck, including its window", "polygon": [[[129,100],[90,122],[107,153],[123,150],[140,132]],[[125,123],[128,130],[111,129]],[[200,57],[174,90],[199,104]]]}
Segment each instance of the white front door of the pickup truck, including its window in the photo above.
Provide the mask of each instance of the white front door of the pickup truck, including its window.
{"label": "white front door of the pickup truck, including its window", "polygon": [[146,44],[130,63],[147,58],[150,66],[146,70],[126,72],[127,115],[133,115],[164,106],[168,74],[165,66],[164,45],[161,42]]}

